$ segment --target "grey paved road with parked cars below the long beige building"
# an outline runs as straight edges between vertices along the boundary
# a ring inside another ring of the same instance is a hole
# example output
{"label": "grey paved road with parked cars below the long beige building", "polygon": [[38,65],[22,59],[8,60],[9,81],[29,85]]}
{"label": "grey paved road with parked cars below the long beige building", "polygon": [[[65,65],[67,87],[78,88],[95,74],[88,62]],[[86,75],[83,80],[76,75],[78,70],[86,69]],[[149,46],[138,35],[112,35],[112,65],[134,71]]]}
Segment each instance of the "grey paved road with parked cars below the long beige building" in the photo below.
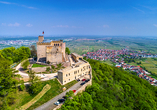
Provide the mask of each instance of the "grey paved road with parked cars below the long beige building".
{"label": "grey paved road with parked cars below the long beige building", "polygon": [[52,110],[52,109],[54,109],[57,106],[57,105],[54,105],[54,103],[58,99],[61,99],[63,96],[65,96],[66,92],[68,92],[69,90],[77,90],[77,89],[79,89],[81,87],[81,85],[80,85],[81,83],[82,83],[82,81],[79,81],[78,83],[76,83],[75,85],[70,87],[68,90],[62,92],[58,96],[54,97],[50,101],[44,103],[43,105],[39,106],[38,108],[36,108],[34,110]]}

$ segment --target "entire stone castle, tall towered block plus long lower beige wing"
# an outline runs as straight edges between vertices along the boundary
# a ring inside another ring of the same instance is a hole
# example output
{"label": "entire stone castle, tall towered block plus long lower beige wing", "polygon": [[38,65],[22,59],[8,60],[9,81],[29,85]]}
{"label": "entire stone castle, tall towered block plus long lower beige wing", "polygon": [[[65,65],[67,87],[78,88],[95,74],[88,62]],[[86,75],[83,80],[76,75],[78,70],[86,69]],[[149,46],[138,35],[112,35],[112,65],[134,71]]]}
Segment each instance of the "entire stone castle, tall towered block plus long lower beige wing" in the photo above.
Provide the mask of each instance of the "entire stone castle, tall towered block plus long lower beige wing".
{"label": "entire stone castle, tall towered block plus long lower beige wing", "polygon": [[44,36],[39,36],[37,42],[37,62],[70,64],[58,71],[58,80],[63,85],[77,79],[92,79],[90,64],[76,53],[71,55],[65,54],[65,43],[62,40],[44,40]]}

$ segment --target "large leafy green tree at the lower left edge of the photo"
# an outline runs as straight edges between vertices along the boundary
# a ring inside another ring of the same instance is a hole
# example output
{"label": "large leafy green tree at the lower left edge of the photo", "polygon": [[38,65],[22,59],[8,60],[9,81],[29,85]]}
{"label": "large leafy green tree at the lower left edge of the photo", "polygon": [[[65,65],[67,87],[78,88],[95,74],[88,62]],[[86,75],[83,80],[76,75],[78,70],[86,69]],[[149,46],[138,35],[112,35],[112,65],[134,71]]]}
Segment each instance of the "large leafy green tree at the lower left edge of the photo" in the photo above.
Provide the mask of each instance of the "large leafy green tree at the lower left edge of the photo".
{"label": "large leafy green tree at the lower left edge of the photo", "polygon": [[11,62],[1,58],[0,61],[0,97],[2,98],[2,108],[0,107],[0,109],[8,109],[10,101],[15,99],[11,94],[14,94],[16,90],[17,80],[10,68]]}

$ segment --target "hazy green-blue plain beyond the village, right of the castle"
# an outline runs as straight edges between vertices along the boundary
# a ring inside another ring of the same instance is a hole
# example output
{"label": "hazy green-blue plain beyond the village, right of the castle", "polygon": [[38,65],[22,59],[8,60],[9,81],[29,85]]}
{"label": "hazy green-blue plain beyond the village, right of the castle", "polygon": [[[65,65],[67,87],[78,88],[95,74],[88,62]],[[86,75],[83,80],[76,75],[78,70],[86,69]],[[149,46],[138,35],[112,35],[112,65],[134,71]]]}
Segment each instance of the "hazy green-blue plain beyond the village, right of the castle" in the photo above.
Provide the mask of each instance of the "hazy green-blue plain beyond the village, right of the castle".
{"label": "hazy green-blue plain beyond the village, right of the castle", "polygon": [[[86,38],[86,39],[85,39]],[[92,39],[92,40],[90,40]],[[129,48],[137,51],[146,51],[157,54],[157,39],[152,37],[80,37],[79,40],[68,41],[66,46],[71,52],[80,55],[86,52],[97,51],[98,49],[122,49]]]}

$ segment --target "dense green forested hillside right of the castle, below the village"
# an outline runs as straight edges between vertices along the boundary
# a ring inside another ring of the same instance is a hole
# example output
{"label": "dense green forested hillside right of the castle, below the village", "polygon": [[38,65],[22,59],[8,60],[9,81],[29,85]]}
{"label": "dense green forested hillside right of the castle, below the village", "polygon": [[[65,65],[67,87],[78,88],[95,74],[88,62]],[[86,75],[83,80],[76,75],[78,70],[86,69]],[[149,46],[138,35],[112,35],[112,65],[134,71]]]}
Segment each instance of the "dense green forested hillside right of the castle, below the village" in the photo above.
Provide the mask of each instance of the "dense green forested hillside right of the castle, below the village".
{"label": "dense green forested hillside right of the castle, below the village", "polygon": [[68,99],[62,110],[157,110],[157,87],[124,70],[88,59],[93,85]]}

